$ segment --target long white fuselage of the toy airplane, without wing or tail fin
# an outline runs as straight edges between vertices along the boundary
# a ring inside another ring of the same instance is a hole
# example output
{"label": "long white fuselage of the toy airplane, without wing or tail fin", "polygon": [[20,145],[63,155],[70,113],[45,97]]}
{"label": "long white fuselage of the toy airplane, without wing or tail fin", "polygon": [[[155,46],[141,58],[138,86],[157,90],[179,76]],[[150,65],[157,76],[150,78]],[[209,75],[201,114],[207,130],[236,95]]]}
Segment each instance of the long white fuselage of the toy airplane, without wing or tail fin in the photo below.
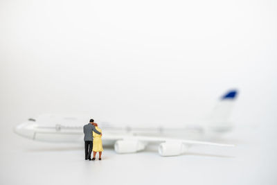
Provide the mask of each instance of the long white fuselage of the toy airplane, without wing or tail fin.
{"label": "long white fuselage of the toy airplane, without wing or tail fin", "polygon": [[[116,135],[126,136],[165,136],[178,139],[207,139],[211,136],[204,127],[101,127],[103,145],[114,143],[109,138]],[[26,121],[15,127],[15,132],[28,139],[48,142],[80,142],[84,139],[83,125],[56,124],[39,125],[35,121]],[[213,132],[213,135],[219,134]],[[108,137],[107,137],[108,136]]]}

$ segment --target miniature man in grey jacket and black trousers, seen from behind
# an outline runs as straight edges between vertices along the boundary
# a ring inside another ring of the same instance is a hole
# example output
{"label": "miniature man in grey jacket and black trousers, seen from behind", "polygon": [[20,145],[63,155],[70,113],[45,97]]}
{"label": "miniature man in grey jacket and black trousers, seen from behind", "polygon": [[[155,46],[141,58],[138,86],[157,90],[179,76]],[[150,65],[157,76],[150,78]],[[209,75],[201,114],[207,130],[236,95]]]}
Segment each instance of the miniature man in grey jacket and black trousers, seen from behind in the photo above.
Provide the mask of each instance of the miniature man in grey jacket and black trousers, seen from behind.
{"label": "miniature man in grey jacket and black trousers, seen from behind", "polygon": [[91,161],[91,151],[93,148],[93,132],[102,136],[102,133],[96,130],[93,122],[94,120],[91,119],[87,125],[84,125],[84,159],[89,159],[89,161]]}

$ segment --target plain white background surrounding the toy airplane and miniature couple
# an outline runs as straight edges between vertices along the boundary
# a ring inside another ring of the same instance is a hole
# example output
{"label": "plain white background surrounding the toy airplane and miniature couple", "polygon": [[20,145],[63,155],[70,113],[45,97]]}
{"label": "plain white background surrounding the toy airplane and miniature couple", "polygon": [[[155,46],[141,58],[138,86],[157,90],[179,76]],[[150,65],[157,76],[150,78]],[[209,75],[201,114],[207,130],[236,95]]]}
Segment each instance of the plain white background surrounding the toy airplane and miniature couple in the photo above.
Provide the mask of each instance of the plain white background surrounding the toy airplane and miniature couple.
{"label": "plain white background surrounding the toy airplane and miniature couple", "polygon": [[[1,184],[276,184],[277,1],[0,1]],[[12,127],[42,113],[180,125],[237,88],[235,149],[84,161]]]}

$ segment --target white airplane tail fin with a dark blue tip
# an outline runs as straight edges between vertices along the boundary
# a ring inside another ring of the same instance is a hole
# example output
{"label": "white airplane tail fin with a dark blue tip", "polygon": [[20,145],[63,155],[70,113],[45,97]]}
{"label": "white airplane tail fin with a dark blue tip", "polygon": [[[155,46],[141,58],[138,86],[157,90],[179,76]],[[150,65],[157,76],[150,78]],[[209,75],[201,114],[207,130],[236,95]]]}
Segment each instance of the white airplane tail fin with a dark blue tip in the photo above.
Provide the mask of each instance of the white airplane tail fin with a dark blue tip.
{"label": "white airplane tail fin with a dark blue tip", "polygon": [[208,130],[212,132],[229,132],[233,124],[229,121],[233,105],[238,97],[238,90],[232,89],[224,94],[215,105],[208,124]]}

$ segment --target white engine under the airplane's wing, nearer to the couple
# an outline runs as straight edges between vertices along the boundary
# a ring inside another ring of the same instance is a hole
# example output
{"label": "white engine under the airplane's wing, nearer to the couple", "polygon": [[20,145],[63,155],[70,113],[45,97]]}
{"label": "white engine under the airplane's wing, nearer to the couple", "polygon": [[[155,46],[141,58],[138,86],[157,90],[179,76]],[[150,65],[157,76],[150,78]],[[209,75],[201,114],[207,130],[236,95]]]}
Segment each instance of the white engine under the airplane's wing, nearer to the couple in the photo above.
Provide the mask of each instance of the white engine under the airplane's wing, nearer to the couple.
{"label": "white engine under the airplane's wing, nearer to the couple", "polygon": [[143,150],[145,148],[145,143],[141,141],[136,140],[119,140],[114,143],[114,150],[117,153],[123,154],[123,153],[134,153],[138,152],[140,150]]}

